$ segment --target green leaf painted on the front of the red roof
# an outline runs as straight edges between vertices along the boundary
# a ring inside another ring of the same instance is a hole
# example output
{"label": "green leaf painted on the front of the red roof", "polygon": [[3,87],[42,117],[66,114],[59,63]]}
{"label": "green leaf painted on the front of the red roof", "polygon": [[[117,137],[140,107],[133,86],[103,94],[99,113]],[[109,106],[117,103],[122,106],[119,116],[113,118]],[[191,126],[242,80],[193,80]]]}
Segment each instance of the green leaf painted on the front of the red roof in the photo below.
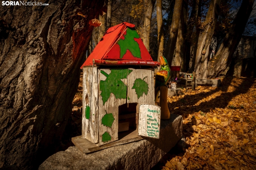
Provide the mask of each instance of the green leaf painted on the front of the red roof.
{"label": "green leaf painted on the front of the red roof", "polygon": [[134,57],[141,59],[141,49],[139,49],[139,44],[134,38],[139,38],[137,31],[127,28],[124,40],[120,39],[117,41],[117,44],[120,46],[120,59],[123,58],[127,50],[129,50]]}

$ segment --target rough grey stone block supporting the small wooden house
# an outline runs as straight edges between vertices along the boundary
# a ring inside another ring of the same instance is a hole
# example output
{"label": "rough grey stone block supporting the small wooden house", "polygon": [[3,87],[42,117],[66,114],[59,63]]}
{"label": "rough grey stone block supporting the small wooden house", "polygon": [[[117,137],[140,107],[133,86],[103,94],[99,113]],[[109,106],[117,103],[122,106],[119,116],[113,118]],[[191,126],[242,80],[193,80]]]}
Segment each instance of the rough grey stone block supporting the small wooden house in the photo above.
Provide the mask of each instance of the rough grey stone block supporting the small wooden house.
{"label": "rough grey stone block supporting the small wooden house", "polygon": [[83,154],[76,146],[48,157],[39,170],[150,170],[182,138],[182,116],[161,120],[160,138],[110,147]]}

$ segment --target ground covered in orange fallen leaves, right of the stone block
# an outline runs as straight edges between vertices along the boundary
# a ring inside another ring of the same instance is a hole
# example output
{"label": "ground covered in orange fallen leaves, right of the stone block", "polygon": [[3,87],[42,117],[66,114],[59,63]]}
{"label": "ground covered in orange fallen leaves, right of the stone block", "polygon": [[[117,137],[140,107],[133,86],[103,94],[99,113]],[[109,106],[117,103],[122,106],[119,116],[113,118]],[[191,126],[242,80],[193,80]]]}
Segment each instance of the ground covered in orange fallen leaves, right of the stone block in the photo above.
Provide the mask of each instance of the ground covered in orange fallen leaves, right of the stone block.
{"label": "ground covered in orange fallen leaves, right of the stone block", "polygon": [[256,169],[256,79],[221,80],[168,98],[170,112],[183,117],[187,149],[166,154],[161,169]]}

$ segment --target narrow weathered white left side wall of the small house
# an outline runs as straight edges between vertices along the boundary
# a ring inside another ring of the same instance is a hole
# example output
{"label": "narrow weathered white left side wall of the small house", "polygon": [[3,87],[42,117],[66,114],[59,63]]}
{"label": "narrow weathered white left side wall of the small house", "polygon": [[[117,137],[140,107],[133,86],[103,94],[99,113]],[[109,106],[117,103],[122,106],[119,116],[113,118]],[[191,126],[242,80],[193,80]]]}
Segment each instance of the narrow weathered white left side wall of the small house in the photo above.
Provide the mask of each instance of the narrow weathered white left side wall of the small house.
{"label": "narrow weathered white left side wall of the small house", "polygon": [[[93,78],[93,83],[91,83]],[[91,85],[93,87],[91,87]],[[92,89],[92,91],[91,91]],[[91,100],[91,103],[90,103]],[[83,111],[82,111],[82,137],[98,142],[98,72],[97,67],[83,68]],[[85,109],[90,106],[90,119],[86,119]]]}

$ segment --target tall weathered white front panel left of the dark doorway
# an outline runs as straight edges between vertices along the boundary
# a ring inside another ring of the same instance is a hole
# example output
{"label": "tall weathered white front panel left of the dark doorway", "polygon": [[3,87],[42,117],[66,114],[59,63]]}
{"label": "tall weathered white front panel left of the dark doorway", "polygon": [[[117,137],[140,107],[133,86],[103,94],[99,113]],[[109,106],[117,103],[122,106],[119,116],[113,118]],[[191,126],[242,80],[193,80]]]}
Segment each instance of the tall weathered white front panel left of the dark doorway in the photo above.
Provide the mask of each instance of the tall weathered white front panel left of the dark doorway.
{"label": "tall weathered white front panel left of the dark doorway", "polygon": [[[99,71],[104,71],[106,74],[109,75],[113,70],[117,70],[117,69],[100,69]],[[125,71],[126,70],[127,69],[125,69]],[[124,74],[124,72],[122,72],[122,74]],[[126,73],[126,75],[127,75],[127,73]],[[106,76],[104,74],[102,74],[101,72],[100,72],[99,77],[100,77],[99,84],[104,83],[103,81],[107,81]],[[105,103],[104,103],[103,96],[101,96],[102,89],[99,91],[99,143],[97,144],[98,146],[108,144],[110,142],[118,140],[118,106],[126,103],[127,76],[124,79],[122,79],[121,81],[125,84],[125,86],[121,90],[122,93],[125,93],[124,99],[119,99],[118,96],[115,96],[111,92],[107,101],[105,101]],[[108,83],[112,84],[112,82],[110,82],[110,81]],[[119,83],[121,83],[121,82],[119,81]],[[112,85],[117,86],[117,82],[113,82]],[[106,88],[109,88],[109,87],[106,87]],[[114,117],[113,124],[111,127],[104,125],[102,122],[102,118],[106,115],[106,113],[112,114]],[[103,139],[103,134],[105,134],[105,133],[108,133],[111,136],[110,140],[106,141],[105,138]]]}

